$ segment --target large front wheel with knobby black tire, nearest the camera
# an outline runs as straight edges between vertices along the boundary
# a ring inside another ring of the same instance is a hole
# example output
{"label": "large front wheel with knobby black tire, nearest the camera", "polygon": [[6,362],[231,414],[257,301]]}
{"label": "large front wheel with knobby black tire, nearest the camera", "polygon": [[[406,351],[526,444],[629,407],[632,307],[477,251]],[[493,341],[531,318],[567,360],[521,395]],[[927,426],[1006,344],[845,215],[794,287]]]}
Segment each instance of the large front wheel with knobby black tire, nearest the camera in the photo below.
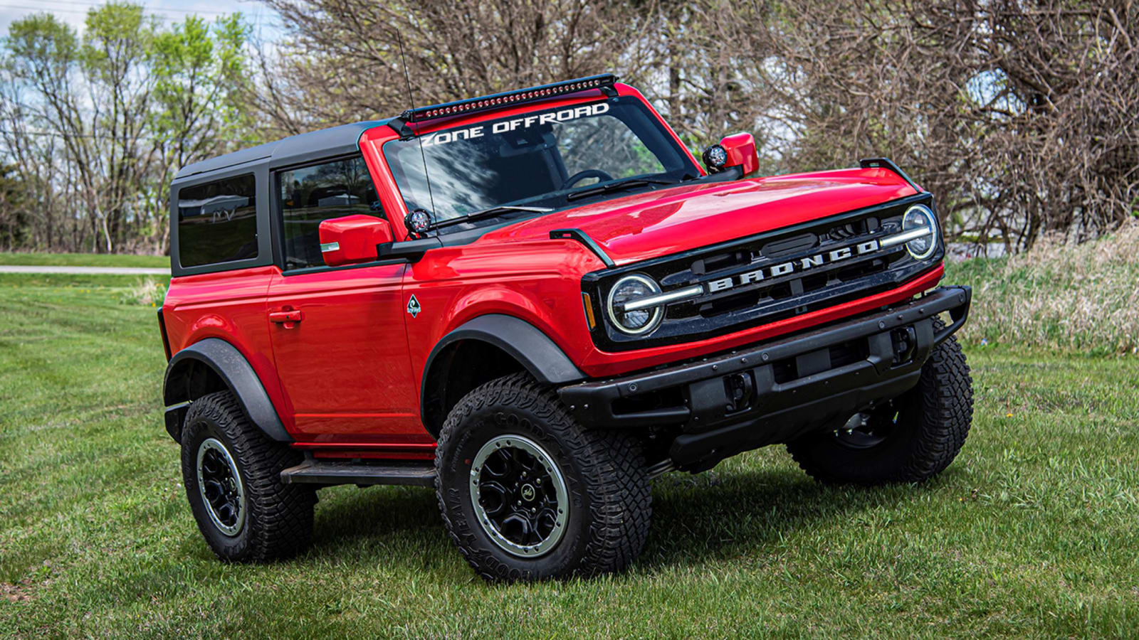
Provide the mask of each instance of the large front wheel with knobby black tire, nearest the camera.
{"label": "large front wheel with knobby black tire, nearest the camera", "polygon": [[583,428],[525,374],[459,401],[435,469],[443,523],[486,580],[617,572],[645,545],[652,498],[640,442]]}

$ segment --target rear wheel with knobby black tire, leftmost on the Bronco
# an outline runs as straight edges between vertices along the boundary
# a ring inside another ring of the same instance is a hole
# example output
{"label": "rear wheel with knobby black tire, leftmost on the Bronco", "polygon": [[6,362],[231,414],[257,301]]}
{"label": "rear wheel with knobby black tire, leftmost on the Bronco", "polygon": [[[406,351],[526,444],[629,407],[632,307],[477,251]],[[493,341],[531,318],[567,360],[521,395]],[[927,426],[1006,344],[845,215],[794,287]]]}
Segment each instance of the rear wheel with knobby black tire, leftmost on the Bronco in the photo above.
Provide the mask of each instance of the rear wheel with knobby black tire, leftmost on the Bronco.
{"label": "rear wheel with knobby black tire, leftmost on the Bronco", "polygon": [[219,558],[264,561],[312,539],[317,494],[281,484],[302,456],[248,422],[232,393],[195,400],[182,422],[182,479],[198,530]]}

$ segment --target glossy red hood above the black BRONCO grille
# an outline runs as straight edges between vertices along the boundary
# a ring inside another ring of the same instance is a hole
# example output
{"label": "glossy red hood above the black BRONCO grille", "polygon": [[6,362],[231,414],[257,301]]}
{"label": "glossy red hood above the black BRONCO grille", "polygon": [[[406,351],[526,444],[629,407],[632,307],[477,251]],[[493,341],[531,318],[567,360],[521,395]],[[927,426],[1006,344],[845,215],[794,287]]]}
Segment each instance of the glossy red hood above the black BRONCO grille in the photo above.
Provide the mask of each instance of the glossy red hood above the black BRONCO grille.
{"label": "glossy red hood above the black BRONCO grille", "polygon": [[618,265],[752,236],[913,195],[885,169],[696,183],[559,211],[495,229],[489,241],[581,229]]}

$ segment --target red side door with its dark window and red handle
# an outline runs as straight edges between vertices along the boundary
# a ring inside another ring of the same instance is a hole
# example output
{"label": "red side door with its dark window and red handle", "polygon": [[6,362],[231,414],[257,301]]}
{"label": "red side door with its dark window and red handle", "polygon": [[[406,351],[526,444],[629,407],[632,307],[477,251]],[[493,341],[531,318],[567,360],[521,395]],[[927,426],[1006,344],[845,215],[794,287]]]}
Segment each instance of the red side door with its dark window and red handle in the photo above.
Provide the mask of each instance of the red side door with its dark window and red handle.
{"label": "red side door with its dark window and red handle", "polygon": [[277,178],[284,269],[269,285],[269,331],[298,442],[394,449],[432,443],[419,421],[404,335],[407,265],[329,269],[320,257],[322,220],[377,215],[362,158]]}

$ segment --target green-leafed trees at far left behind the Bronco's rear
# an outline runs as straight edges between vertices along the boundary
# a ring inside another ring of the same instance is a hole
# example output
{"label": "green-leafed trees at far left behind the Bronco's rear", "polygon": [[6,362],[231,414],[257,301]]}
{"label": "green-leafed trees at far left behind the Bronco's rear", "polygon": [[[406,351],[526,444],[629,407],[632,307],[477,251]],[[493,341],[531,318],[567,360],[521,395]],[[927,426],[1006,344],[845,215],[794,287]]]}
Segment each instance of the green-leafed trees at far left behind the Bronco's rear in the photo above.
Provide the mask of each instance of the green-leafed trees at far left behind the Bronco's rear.
{"label": "green-leafed trees at far left behind the Bronco's rear", "polygon": [[249,129],[247,38],[236,15],[164,30],[129,2],[91,9],[82,38],[47,14],[13,23],[0,157],[35,186],[34,246],[164,251],[173,172]]}

